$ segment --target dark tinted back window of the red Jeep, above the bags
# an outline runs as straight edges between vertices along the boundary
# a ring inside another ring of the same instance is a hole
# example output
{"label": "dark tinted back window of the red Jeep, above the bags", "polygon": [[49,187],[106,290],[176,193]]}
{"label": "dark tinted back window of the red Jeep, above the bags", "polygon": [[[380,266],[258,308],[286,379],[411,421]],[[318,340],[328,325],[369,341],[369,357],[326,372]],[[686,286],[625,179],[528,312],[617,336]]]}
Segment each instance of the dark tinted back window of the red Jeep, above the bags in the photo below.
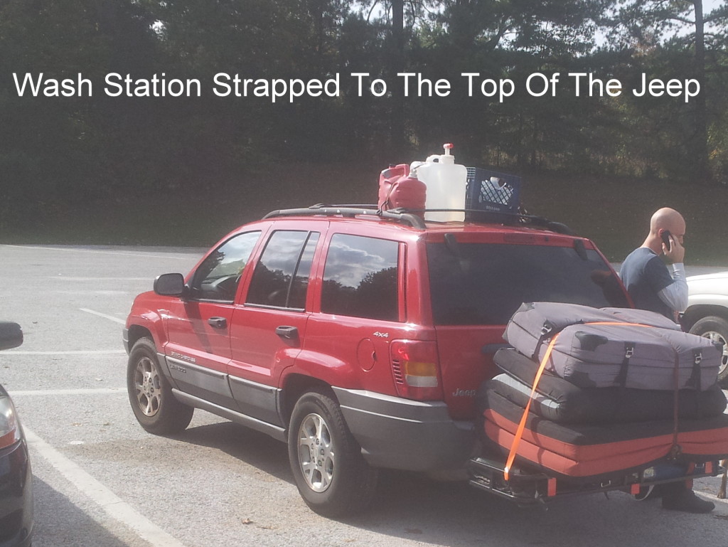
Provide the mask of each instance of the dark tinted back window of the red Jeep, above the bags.
{"label": "dark tinted back window of the red Jeep, above the bags", "polygon": [[628,305],[596,252],[552,245],[428,243],[436,325],[505,325],[523,302]]}

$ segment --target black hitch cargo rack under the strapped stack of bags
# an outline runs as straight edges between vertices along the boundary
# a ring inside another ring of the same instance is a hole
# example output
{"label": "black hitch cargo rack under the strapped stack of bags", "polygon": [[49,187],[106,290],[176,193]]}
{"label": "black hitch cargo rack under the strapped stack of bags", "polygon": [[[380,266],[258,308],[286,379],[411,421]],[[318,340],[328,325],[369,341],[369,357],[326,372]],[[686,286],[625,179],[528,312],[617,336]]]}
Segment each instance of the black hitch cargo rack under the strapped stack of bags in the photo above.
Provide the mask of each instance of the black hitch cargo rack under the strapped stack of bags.
{"label": "black hitch cargo rack under the strapped stack of bags", "polygon": [[638,495],[657,484],[701,479],[717,476],[724,472],[720,466],[720,460],[691,463],[686,475],[670,479],[657,480],[654,478],[652,470],[653,467],[650,465],[638,471],[625,471],[623,474],[610,473],[608,478],[582,481],[559,479],[539,471],[531,472],[522,468],[513,468],[510,470],[510,480],[506,481],[502,462],[485,457],[475,457],[467,463],[471,487],[504,497],[523,506],[599,492],[606,494],[606,492],[620,491]]}

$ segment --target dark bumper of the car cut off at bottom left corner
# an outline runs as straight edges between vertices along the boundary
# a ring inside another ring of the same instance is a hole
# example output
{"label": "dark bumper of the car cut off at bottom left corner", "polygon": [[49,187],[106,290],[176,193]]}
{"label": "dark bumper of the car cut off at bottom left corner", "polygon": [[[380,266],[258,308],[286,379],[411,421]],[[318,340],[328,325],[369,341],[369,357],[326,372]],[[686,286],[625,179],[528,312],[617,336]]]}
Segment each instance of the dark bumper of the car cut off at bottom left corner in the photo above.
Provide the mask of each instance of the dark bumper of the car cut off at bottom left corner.
{"label": "dark bumper of the car cut off at bottom left corner", "polygon": [[0,450],[0,547],[25,547],[33,532],[33,477],[25,439]]}

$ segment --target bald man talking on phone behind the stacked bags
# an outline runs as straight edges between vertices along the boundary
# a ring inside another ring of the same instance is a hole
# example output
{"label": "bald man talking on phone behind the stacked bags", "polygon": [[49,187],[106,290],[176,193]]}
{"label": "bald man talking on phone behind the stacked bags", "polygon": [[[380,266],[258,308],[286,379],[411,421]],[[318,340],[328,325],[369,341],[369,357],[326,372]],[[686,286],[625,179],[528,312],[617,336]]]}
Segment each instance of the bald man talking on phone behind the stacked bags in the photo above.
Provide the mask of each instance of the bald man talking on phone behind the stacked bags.
{"label": "bald man talking on phone behind the stacked bags", "polygon": [[[688,291],[684,237],[685,219],[676,210],[665,207],[652,215],[644,243],[627,256],[620,269],[620,278],[635,307],[661,313],[676,322],[678,313],[685,311]],[[713,502],[697,497],[683,482],[662,484],[655,491],[662,495],[665,509],[710,513],[715,507]]]}

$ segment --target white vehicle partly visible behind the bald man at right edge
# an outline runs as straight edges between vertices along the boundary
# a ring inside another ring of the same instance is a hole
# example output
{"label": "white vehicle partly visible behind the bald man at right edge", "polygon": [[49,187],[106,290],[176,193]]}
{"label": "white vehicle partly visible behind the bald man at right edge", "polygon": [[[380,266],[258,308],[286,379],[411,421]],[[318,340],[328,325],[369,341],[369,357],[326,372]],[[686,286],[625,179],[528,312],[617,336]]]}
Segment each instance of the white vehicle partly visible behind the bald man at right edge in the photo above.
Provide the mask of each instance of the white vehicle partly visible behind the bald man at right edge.
{"label": "white vehicle partly visible behind the bald man at right edge", "polygon": [[723,343],[718,381],[728,389],[728,272],[687,278],[688,308],[681,323],[685,330]]}

